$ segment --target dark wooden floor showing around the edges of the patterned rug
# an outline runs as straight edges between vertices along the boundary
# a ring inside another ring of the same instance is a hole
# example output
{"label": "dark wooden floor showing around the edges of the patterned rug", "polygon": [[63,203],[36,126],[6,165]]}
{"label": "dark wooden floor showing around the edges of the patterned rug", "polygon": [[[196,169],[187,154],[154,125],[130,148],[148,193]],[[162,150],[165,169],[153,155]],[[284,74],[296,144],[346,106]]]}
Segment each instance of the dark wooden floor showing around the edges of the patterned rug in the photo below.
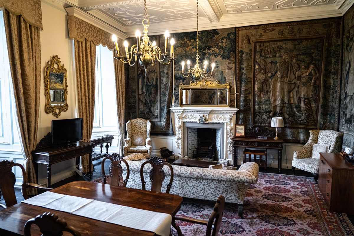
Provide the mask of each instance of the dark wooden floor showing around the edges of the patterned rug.
{"label": "dark wooden floor showing around the edges of the patterned rug", "polygon": [[[169,162],[173,162],[173,160],[170,160]],[[98,179],[98,178],[102,177],[102,171],[101,171],[102,159],[95,160],[92,163],[93,163],[94,167],[93,167],[91,179],[89,178],[89,174],[85,174],[82,177],[81,176],[72,176],[67,179],[61,180],[55,184],[52,184],[51,187],[57,188],[57,187],[62,186],[66,183],[70,183],[70,182],[77,181],[77,180],[91,181],[91,180]],[[108,173],[108,165],[109,165],[108,160],[106,160],[106,163],[105,163],[105,173],[106,174]],[[264,173],[264,168],[259,168],[259,172]],[[278,173],[278,168],[267,167],[267,173]],[[292,175],[292,170],[291,169],[282,169],[281,174]],[[299,176],[313,177],[312,173],[309,173],[306,171],[301,171],[301,170],[296,170],[295,174],[299,175]],[[17,197],[17,202],[21,202],[23,200],[21,189],[16,189],[16,197]],[[5,204],[5,201],[3,199],[0,199],[0,203]],[[354,225],[354,215],[348,215],[348,218],[350,219],[350,221]]]}

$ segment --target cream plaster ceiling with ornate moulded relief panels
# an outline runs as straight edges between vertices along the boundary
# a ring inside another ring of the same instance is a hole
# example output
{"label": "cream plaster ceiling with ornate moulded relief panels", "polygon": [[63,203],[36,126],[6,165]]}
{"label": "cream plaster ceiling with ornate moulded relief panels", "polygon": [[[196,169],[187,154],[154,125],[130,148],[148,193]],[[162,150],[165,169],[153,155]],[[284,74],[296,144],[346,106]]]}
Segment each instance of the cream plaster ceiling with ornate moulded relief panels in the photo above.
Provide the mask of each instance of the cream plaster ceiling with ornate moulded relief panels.
{"label": "cream plaster ceiling with ornate moulded relief panels", "polygon": [[[76,7],[132,36],[144,1],[78,0]],[[354,0],[199,0],[199,28],[215,29],[342,16]],[[149,34],[196,30],[196,0],[147,0]]]}

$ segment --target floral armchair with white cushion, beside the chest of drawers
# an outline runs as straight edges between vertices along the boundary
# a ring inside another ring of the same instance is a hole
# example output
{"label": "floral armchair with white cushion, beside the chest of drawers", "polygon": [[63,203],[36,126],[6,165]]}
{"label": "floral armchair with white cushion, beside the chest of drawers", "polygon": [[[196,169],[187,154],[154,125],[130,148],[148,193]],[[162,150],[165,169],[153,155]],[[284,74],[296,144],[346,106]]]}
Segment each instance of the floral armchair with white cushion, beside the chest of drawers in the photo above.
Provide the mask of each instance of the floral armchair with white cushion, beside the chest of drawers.
{"label": "floral armchair with white cushion, beside the chest of drawers", "polygon": [[295,168],[311,172],[314,175],[315,183],[318,180],[320,165],[320,152],[340,152],[343,142],[343,133],[334,130],[310,130],[310,138],[301,151],[294,151],[292,160],[292,171]]}

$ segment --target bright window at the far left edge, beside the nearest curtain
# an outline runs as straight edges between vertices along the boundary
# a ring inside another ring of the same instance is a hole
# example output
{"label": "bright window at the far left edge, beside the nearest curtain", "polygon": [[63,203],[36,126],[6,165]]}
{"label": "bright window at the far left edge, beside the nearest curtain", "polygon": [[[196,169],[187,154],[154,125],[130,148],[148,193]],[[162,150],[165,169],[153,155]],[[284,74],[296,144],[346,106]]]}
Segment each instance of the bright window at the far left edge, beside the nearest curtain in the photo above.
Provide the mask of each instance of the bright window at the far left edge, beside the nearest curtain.
{"label": "bright window at the far left edge, beside the nearest curtain", "polygon": [[[0,11],[0,161],[12,160],[23,165],[14,100],[4,16]],[[21,185],[20,169],[15,168],[13,171],[16,175],[16,185]]]}

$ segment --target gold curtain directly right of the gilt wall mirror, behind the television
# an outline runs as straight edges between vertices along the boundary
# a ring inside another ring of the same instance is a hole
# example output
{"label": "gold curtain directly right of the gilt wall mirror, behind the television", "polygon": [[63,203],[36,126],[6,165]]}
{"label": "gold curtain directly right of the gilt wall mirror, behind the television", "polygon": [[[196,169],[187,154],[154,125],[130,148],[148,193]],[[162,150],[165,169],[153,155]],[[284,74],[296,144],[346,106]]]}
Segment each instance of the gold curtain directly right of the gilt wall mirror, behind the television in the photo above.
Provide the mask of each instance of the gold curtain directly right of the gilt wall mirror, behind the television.
{"label": "gold curtain directly right of the gilt wall mirror, behind the television", "polygon": [[[74,40],[76,87],[79,117],[83,118],[82,137],[90,142],[95,112],[96,45],[86,39]],[[82,172],[89,172],[89,155],[81,156]]]}

